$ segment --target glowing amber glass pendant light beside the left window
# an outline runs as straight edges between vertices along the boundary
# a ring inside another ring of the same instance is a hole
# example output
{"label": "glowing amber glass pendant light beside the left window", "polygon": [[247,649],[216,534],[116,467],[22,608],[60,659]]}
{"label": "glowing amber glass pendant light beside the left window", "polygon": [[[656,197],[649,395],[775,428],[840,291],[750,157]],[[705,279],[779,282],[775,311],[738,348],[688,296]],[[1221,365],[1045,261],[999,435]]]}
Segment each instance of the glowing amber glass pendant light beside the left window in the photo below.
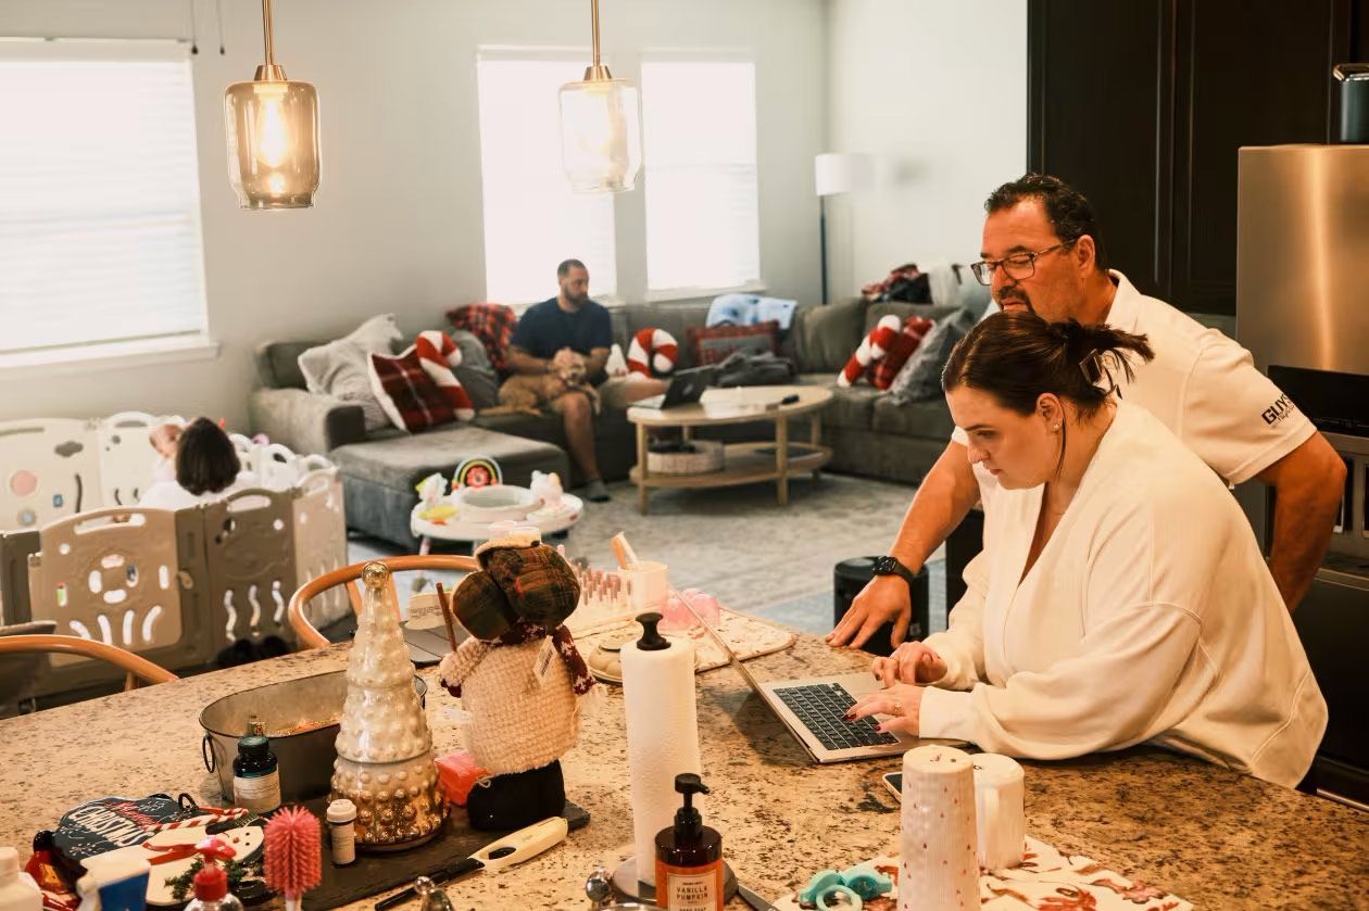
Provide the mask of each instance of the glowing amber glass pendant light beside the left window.
{"label": "glowing amber glass pendant light beside the left window", "polygon": [[319,94],[275,63],[271,0],[261,0],[266,63],[223,93],[229,179],[245,209],[307,209],[319,189]]}

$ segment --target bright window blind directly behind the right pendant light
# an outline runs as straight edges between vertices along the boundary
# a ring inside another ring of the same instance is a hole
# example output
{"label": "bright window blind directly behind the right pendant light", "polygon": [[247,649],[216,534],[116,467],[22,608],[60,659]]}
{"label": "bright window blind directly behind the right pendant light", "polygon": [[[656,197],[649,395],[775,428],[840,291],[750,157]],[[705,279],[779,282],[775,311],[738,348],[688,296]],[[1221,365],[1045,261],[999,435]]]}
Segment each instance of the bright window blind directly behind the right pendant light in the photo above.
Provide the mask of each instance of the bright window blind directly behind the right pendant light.
{"label": "bright window blind directly behind the right pendant light", "polygon": [[501,304],[553,297],[556,267],[568,259],[585,263],[591,295],[613,294],[613,197],[572,193],[561,170],[557,92],[583,78],[583,55],[516,59],[482,52],[476,75],[486,295]]}

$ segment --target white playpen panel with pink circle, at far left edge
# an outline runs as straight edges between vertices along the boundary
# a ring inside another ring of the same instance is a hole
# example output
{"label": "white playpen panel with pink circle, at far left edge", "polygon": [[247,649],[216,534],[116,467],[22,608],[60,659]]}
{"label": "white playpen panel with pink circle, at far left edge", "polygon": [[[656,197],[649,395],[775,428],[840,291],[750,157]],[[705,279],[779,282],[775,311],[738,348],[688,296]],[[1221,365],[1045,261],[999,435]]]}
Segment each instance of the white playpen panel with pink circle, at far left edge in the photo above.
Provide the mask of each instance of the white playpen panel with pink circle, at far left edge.
{"label": "white playpen panel with pink circle, at far left edge", "polygon": [[100,502],[100,461],[88,421],[0,423],[0,528],[41,528]]}

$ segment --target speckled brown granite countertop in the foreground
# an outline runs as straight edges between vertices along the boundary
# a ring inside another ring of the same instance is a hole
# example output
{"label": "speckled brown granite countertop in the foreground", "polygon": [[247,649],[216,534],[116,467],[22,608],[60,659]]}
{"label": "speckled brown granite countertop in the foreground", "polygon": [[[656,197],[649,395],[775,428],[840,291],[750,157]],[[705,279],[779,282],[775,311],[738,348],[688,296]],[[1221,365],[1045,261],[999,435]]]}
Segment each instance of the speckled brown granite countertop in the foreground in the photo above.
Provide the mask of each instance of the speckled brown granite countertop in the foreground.
{"label": "speckled brown granite countertop in the foreground", "polygon": [[[36,830],[92,797],[188,791],[218,803],[200,758],[200,709],[251,687],[338,670],[345,659],[346,647],[334,646],[0,721],[0,845],[26,856]],[[868,663],[868,655],[805,635],[749,666],[768,680]],[[434,670],[423,673],[434,680]],[[705,821],[723,833],[743,884],[775,899],[816,870],[895,847],[897,803],[880,776],[899,767],[897,758],[815,766],[734,670],[698,683],[704,776],[713,788]],[[459,745],[444,711],[453,704],[430,691],[438,751]],[[520,867],[452,885],[455,907],[586,908],[590,870],[612,870],[632,852],[620,689],[608,689],[563,765],[567,795],[589,810],[590,825]],[[1025,765],[1029,834],[1198,908],[1369,907],[1369,814],[1153,748]]]}

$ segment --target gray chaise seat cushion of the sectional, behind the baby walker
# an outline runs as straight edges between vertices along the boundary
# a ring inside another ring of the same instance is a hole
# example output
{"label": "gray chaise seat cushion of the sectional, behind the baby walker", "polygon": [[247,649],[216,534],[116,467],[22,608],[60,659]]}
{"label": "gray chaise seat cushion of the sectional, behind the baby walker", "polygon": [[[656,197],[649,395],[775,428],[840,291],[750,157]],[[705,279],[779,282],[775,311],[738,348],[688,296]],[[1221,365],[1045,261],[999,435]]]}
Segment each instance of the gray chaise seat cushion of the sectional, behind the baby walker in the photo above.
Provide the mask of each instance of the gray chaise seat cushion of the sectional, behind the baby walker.
{"label": "gray chaise seat cushion of the sectional, behind the baby walker", "polygon": [[468,456],[489,456],[505,471],[520,468],[520,473],[533,468],[559,471],[564,465],[561,450],[550,443],[471,424],[349,443],[329,453],[344,475],[398,491],[413,491],[433,472],[450,475]]}

